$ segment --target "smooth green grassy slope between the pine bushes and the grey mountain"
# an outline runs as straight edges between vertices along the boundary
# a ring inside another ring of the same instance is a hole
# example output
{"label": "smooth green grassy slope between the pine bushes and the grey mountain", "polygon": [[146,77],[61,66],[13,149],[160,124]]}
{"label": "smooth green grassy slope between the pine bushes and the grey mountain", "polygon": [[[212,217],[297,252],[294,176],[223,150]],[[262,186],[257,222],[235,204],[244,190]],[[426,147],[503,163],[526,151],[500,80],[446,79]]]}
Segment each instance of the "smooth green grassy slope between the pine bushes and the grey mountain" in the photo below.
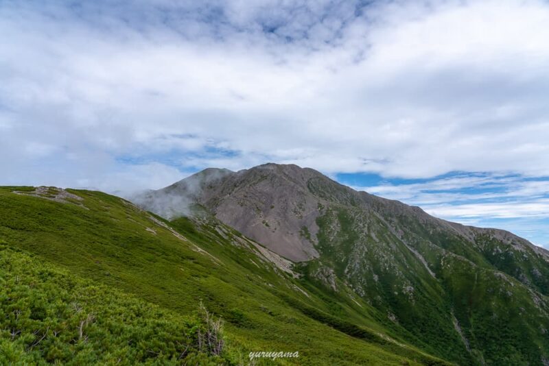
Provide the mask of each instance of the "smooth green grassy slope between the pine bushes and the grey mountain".
{"label": "smooth green grassy slope between the pine bushes and the grey mountain", "polygon": [[325,324],[288,306],[279,293],[326,310],[321,297],[303,293],[299,280],[261,259],[226,227],[180,220],[170,223],[178,230],[172,232],[165,222],[103,193],[70,191],[82,200],[60,203],[13,190],[0,188],[0,239],[71,276],[156,304],[181,319],[202,301],[226,320],[225,362],[246,363],[251,351],[299,351],[299,358],[277,363],[301,365],[421,365],[431,360],[411,347],[351,337],[334,321]]}

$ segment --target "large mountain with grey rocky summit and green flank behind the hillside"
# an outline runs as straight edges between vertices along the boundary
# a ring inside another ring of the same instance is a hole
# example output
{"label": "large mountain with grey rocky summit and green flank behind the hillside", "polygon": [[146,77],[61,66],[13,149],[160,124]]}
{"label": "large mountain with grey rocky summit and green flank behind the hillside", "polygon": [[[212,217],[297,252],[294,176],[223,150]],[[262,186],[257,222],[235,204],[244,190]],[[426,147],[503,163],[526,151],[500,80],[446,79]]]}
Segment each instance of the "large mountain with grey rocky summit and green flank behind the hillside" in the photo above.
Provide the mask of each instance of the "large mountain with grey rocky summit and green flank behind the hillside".
{"label": "large mountain with grey rocky summit and green flank behind the hillside", "polygon": [[549,365],[549,252],[509,232],[437,219],[295,165],[206,169],[133,201],[165,219],[217,219],[290,260],[303,288],[336,302],[332,315],[374,319],[434,356]]}

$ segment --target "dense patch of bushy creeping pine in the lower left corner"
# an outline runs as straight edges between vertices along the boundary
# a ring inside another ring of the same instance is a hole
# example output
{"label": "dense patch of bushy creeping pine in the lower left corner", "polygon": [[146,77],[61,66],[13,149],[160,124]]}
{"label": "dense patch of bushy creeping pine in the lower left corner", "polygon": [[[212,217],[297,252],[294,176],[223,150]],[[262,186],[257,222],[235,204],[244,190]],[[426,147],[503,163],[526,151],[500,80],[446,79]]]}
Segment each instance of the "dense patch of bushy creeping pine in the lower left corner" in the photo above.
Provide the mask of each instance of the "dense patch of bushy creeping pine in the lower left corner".
{"label": "dense patch of bushy creeping pine in the lower left corner", "polygon": [[0,365],[220,365],[222,321],[183,317],[0,246]]}

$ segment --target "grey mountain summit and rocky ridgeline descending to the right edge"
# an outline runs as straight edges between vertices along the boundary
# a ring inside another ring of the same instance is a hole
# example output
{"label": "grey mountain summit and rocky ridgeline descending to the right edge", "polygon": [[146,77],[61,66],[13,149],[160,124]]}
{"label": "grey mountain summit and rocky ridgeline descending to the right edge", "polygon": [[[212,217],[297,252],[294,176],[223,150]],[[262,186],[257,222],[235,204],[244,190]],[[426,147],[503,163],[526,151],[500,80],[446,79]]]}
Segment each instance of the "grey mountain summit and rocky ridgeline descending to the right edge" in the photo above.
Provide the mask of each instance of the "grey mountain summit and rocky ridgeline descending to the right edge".
{"label": "grey mountain summit and rocky ridgeline descending to the right edge", "polygon": [[[261,184],[268,177],[271,179],[266,182],[267,184]],[[298,189],[292,189],[291,186]],[[267,191],[272,191],[268,197],[265,195]],[[292,193],[298,193],[301,197],[296,197]],[[288,215],[281,217],[283,212],[276,212],[277,206],[274,205],[274,201],[277,201],[277,198],[280,201],[282,196],[287,199],[284,200],[285,202],[279,202],[281,204],[279,208],[293,210],[296,213],[294,217],[288,217]],[[303,197],[305,197],[306,210],[303,206]],[[307,198],[316,200],[316,203],[310,204]],[[207,168],[158,191],[149,191],[132,199],[143,208],[167,219],[191,215],[190,205],[203,205],[211,210],[220,221],[233,226],[250,238],[257,239],[277,254],[298,262],[318,256],[314,248],[309,245],[314,244],[316,240],[315,221],[319,212],[317,210],[318,203],[334,201],[337,204],[350,206],[365,205],[376,211],[381,210],[386,215],[414,215],[423,222],[438,222],[449,230],[454,230],[465,236],[470,241],[474,241],[476,234],[491,232],[500,240],[506,239],[509,242],[526,245],[549,258],[549,251],[546,249],[533,245],[526,239],[506,230],[477,228],[439,219],[429,215],[419,206],[410,206],[397,200],[371,195],[365,191],[355,191],[349,186],[331,180],[319,171],[301,168],[296,164],[269,162],[240,171]],[[255,202],[250,202],[250,200],[255,200]],[[246,212],[240,210],[235,202],[238,206],[250,210]],[[267,205],[265,205],[266,202]],[[275,212],[272,212],[273,210]],[[307,219],[303,219],[303,212],[301,215],[299,214],[301,211],[306,211]],[[251,217],[254,212],[258,214],[254,215],[255,219]],[[289,231],[292,232],[290,228],[285,228],[285,223],[288,223],[288,220],[297,221],[291,225],[294,232],[296,230],[299,232],[303,225],[310,225],[311,227],[307,229],[312,240],[303,241],[303,238],[296,235],[281,237],[276,234],[279,228],[286,234]],[[261,228],[259,223],[270,230]],[[285,246],[279,245],[281,241],[285,243]]]}

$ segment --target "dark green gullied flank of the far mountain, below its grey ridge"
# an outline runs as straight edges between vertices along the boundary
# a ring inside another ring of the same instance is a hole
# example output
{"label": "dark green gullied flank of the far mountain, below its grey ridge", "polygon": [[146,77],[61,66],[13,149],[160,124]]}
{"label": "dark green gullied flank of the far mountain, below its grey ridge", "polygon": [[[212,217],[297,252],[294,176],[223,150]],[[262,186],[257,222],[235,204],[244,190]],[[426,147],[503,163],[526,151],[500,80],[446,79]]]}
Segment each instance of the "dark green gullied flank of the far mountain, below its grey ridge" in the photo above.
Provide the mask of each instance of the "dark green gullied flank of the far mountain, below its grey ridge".
{"label": "dark green gullied flank of the far mountain, below its grey ridge", "polygon": [[463,365],[548,362],[543,256],[485,234],[467,241],[417,215],[378,212],[325,208],[317,221],[321,256],[307,263],[305,276],[329,288],[318,268],[333,268],[393,319],[398,327],[388,334],[430,354]]}

